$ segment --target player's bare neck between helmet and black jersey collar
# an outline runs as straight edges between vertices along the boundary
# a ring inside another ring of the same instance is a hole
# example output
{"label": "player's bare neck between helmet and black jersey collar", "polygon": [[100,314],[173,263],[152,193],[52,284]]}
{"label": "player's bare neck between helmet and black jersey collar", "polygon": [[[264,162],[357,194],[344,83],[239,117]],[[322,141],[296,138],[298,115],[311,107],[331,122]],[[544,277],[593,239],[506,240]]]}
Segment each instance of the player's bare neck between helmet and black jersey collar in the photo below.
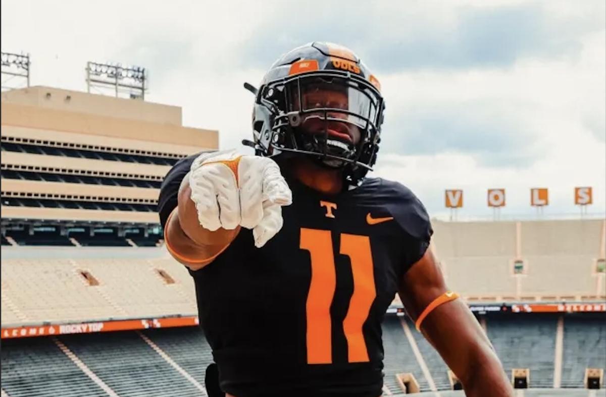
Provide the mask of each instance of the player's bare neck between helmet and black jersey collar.
{"label": "player's bare neck between helmet and black jersey collar", "polygon": [[343,189],[340,169],[324,168],[309,159],[293,161],[293,176],[299,182],[324,194],[338,194]]}

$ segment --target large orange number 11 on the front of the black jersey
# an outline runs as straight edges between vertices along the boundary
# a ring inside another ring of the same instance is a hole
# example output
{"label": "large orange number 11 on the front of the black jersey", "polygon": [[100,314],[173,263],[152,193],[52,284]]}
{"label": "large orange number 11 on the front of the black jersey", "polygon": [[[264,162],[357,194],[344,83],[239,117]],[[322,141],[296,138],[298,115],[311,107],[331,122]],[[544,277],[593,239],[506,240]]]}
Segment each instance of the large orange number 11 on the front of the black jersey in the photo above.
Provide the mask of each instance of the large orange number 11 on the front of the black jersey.
{"label": "large orange number 11 on the front of the black jersey", "polygon": [[[306,306],[307,363],[331,364],[330,304],[335,295],[336,272],[330,231],[302,228],[300,247],[309,251],[311,257],[311,283]],[[340,254],[350,257],[353,274],[353,295],[343,320],[347,358],[350,363],[364,363],[369,360],[362,326],[376,296],[370,239],[342,233]]]}

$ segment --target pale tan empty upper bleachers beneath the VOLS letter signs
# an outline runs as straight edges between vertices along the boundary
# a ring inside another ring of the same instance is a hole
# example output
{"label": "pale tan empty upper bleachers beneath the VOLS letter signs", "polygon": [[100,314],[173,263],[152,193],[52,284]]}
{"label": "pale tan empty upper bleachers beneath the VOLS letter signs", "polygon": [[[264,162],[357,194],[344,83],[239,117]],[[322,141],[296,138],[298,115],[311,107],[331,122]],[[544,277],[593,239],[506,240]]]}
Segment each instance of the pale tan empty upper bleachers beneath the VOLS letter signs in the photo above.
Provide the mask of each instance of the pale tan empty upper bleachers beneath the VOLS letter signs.
{"label": "pale tan empty upper bleachers beneath the VOLS letter signs", "polygon": [[[474,300],[581,300],[606,295],[594,272],[603,219],[433,221],[433,248],[451,289]],[[522,260],[521,275],[513,271]]]}

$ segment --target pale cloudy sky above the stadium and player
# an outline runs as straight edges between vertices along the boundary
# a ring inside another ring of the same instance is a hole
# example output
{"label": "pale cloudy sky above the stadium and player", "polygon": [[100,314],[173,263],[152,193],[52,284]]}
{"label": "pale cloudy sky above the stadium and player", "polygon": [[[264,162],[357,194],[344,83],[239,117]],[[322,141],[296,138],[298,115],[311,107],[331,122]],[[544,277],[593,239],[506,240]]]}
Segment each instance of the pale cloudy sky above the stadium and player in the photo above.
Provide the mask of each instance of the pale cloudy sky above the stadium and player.
{"label": "pale cloudy sky above the stadium and player", "polygon": [[[296,5],[298,4],[298,5]],[[302,5],[304,4],[304,5]],[[396,179],[444,217],[490,217],[487,188],[507,189],[502,217],[576,214],[574,186],[606,212],[606,6],[578,1],[2,0],[2,51],[30,53],[32,85],[85,90],[87,61],[150,70],[147,100],[183,108],[184,125],[249,138],[252,96],[282,53],[310,41],[354,50],[387,103],[374,174]]]}

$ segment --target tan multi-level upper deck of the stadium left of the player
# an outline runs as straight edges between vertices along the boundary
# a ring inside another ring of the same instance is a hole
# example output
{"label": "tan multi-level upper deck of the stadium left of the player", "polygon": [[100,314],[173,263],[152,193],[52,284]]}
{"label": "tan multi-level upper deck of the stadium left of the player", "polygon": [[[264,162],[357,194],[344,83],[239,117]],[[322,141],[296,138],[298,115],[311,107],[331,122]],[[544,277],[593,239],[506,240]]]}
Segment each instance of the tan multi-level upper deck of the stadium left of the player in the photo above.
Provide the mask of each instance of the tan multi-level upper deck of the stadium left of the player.
{"label": "tan multi-level upper deck of the stadium left of the player", "polygon": [[83,225],[90,237],[104,225],[147,236],[170,166],[216,149],[218,131],[182,126],[179,107],[30,87],[2,93],[0,146],[3,244],[7,231],[69,237]]}

